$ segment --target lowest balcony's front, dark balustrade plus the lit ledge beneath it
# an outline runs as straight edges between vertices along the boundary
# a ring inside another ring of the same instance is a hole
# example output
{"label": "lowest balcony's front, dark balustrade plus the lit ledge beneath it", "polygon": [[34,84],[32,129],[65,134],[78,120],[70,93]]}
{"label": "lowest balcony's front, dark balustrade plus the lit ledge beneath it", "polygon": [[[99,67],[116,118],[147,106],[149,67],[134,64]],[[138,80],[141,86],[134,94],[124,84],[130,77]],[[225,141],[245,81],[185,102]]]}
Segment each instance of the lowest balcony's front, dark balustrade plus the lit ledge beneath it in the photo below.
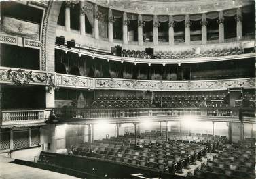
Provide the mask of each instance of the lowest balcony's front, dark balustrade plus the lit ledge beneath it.
{"label": "lowest balcony's front, dark balustrade plus the lit ledge beneath it", "polygon": [[142,122],[195,118],[200,121],[240,122],[237,108],[145,108],[145,109],[77,109],[55,108],[56,122],[95,123],[107,119],[115,122]]}

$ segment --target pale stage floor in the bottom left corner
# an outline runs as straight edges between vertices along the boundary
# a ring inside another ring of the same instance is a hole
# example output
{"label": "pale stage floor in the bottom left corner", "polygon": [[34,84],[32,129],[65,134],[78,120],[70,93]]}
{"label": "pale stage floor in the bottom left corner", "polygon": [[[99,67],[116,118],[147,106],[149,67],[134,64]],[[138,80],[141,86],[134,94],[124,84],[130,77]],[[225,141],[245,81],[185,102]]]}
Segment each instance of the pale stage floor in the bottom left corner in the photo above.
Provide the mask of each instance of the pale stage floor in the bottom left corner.
{"label": "pale stage floor in the bottom left corner", "polygon": [[39,168],[31,168],[24,165],[9,163],[8,159],[0,157],[0,179],[76,179],[76,177],[41,170]]}

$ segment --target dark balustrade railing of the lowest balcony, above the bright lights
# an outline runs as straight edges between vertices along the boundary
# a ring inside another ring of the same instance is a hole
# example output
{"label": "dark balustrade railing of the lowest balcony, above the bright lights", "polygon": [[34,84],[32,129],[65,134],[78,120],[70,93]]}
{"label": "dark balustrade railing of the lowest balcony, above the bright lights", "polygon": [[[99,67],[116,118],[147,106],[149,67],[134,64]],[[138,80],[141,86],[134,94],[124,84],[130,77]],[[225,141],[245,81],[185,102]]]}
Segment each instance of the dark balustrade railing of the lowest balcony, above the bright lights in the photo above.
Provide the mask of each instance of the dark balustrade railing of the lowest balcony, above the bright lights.
{"label": "dark balustrade railing of the lowest balcony, above the bright lights", "polygon": [[142,108],[142,109],[77,109],[54,108],[58,120],[138,118],[138,117],[223,117],[239,118],[237,108]]}

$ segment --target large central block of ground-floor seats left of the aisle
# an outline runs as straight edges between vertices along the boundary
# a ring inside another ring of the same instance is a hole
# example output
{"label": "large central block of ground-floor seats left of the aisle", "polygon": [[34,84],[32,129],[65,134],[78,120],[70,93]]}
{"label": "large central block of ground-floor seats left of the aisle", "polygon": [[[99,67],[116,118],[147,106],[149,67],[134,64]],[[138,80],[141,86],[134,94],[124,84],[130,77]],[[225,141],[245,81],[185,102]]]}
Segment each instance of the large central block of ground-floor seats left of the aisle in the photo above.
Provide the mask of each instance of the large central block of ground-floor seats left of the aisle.
{"label": "large central block of ground-floor seats left of the aisle", "polygon": [[[73,154],[136,165],[160,172],[182,173],[183,168],[189,168],[191,165],[195,165],[196,168],[198,165],[196,161],[202,161],[206,153],[219,148],[220,141],[225,139],[219,138],[211,143],[161,138],[140,139],[135,145],[133,138],[132,134],[127,134],[117,138],[96,140],[92,143],[90,152],[86,143],[77,147]],[[208,139],[206,136],[204,141],[209,141]]]}

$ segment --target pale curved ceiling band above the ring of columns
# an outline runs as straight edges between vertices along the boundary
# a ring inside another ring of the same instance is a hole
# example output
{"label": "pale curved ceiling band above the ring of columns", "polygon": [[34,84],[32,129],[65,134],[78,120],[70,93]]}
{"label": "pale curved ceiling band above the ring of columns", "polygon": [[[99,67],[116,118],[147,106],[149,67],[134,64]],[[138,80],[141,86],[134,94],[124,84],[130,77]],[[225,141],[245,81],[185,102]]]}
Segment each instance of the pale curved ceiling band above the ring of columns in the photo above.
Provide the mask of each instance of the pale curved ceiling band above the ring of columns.
{"label": "pale curved ceiling band above the ring of columns", "polygon": [[252,1],[243,0],[187,0],[187,1],[139,1],[139,0],[89,0],[97,5],[136,14],[198,14],[208,11],[233,9],[251,5]]}

